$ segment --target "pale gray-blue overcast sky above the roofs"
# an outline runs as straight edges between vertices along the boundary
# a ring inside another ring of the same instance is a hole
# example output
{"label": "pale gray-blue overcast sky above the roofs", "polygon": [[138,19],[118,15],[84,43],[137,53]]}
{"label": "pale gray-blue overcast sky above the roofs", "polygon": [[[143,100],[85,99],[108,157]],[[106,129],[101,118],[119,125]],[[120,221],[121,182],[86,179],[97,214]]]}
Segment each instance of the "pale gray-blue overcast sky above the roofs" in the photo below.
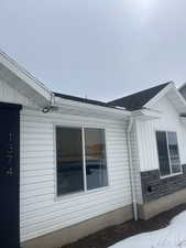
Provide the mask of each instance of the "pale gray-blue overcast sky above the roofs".
{"label": "pale gray-blue overcast sky above the roofs", "polygon": [[0,0],[0,47],[53,90],[109,100],[186,82],[185,0]]}

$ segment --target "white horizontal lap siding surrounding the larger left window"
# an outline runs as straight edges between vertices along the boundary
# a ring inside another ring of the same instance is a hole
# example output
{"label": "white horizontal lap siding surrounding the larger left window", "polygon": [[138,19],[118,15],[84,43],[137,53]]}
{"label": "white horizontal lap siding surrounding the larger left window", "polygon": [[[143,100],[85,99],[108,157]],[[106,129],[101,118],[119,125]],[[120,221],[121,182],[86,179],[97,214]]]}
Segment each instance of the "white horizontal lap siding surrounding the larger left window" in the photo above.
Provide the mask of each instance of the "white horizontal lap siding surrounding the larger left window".
{"label": "white horizontal lap siding surrounding the larger left window", "polygon": [[[105,128],[108,187],[56,197],[55,125]],[[22,111],[22,241],[131,204],[124,125],[119,120]]]}

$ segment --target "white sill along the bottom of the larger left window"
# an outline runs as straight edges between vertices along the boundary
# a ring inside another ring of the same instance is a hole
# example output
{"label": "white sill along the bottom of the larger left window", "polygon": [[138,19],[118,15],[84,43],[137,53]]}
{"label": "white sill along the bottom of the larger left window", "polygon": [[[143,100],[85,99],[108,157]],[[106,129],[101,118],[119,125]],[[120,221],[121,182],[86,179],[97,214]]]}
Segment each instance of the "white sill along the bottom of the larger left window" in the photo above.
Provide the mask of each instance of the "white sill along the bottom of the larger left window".
{"label": "white sill along the bottom of the larger left window", "polygon": [[96,193],[101,193],[101,192],[107,192],[110,188],[110,186],[103,186],[99,188],[94,188],[94,190],[88,190],[88,191],[78,191],[69,194],[64,194],[64,195],[55,195],[55,202],[61,202],[69,198],[75,198],[75,197],[83,197]]}

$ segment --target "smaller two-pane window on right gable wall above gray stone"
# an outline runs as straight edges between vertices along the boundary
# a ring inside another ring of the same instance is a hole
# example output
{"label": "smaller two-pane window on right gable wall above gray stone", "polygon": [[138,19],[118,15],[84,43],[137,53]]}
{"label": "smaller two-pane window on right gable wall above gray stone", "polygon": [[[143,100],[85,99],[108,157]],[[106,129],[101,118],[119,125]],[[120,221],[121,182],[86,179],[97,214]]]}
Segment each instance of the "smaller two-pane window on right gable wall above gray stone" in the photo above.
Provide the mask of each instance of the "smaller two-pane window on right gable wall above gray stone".
{"label": "smaller two-pane window on right gable wall above gray stone", "polygon": [[162,176],[180,172],[176,132],[156,132],[160,172]]}

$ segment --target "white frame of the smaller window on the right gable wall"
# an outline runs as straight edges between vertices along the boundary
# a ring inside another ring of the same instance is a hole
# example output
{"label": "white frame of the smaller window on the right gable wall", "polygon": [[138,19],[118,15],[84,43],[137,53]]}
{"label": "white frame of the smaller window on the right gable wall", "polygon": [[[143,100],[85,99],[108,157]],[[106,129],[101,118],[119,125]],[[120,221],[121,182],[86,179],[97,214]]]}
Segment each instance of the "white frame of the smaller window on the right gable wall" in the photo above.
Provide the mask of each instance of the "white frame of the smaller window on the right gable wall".
{"label": "white frame of the smaller window on the right gable wall", "polygon": [[[161,175],[161,164],[160,164],[160,159],[158,159],[158,147],[157,147],[157,138],[156,138],[156,133],[157,132],[165,132],[166,133],[166,148],[167,148],[167,153],[168,153],[168,164],[169,164],[169,174],[168,175]],[[176,133],[176,138],[177,138],[177,150],[178,150],[178,157],[179,157],[179,166],[180,166],[180,172],[176,172],[174,173],[173,172],[173,169],[172,169],[172,162],[171,162],[171,154],[169,154],[169,148],[168,148],[168,132],[174,132]],[[157,150],[157,159],[158,159],[158,171],[160,171],[160,176],[161,179],[166,179],[166,177],[169,177],[169,176],[175,176],[175,175],[179,175],[179,174],[183,174],[183,168],[182,168],[182,163],[180,163],[180,155],[179,155],[179,144],[178,144],[178,137],[177,137],[177,132],[176,131],[165,131],[165,130],[155,130],[155,139],[156,139],[156,150]]]}

